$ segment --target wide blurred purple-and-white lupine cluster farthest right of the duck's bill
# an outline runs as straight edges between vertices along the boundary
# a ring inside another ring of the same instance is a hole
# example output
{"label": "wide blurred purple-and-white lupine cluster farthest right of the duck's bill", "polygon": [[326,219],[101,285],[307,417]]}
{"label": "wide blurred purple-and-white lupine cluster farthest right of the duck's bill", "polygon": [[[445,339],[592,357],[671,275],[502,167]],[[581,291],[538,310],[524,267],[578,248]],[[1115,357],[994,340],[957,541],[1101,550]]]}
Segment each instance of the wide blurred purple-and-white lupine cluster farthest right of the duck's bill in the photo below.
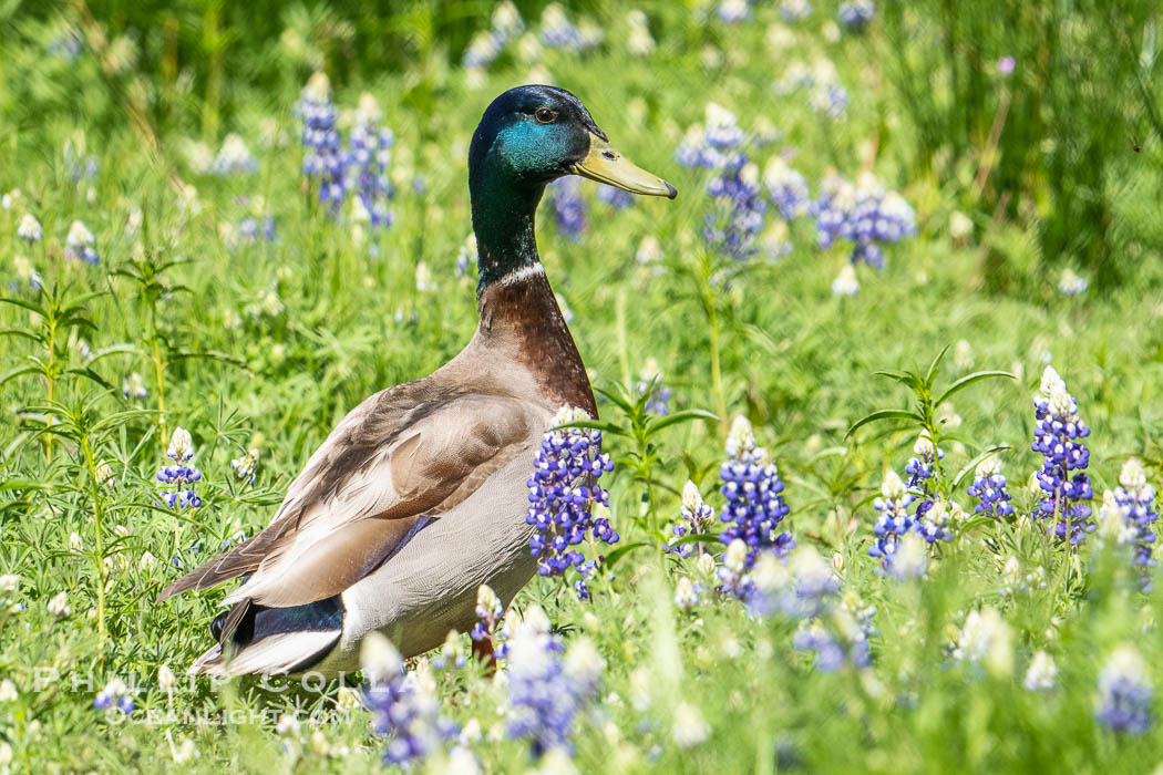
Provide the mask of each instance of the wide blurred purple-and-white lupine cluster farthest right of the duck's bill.
{"label": "wide blurred purple-and-white lupine cluster farthest right of the duck's bill", "polygon": [[820,196],[808,206],[815,217],[821,250],[837,239],[855,243],[849,259],[884,268],[880,243],[900,242],[916,232],[915,213],[896,192],[886,192],[870,173],[856,186],[832,174],[820,185]]}

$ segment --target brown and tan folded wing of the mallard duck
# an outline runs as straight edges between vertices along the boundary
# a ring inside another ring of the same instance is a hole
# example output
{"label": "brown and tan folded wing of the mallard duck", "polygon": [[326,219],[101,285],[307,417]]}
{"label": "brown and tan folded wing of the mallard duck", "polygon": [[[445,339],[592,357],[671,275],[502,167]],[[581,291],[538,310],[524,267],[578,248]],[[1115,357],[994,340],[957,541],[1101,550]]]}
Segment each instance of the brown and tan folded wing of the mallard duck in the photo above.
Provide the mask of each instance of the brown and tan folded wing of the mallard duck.
{"label": "brown and tan folded wing of the mallard duck", "polygon": [[265,530],[158,600],[241,575],[250,577],[226,604],[292,607],[341,594],[535,444],[542,415],[527,401],[442,386],[435,375],[378,393],[312,455]]}

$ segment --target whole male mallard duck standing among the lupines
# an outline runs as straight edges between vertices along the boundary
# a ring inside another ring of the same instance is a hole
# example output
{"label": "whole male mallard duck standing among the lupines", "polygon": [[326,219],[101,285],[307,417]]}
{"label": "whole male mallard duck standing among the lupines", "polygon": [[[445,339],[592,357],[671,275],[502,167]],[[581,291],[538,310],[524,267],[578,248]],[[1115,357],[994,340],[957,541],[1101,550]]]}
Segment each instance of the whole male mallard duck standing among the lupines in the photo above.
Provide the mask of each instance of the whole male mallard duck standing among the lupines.
{"label": "whole male mallard duck standing among the lupines", "polygon": [[677,193],[615,151],[565,89],[493,100],[469,149],[476,335],[433,374],[356,407],[265,530],[162,593],[244,576],[191,672],[352,670],[372,631],[419,654],[472,627],[480,584],[507,605],[529,581],[526,480],[542,433],[563,406],[598,414],[534,236],[545,184],[566,174]]}

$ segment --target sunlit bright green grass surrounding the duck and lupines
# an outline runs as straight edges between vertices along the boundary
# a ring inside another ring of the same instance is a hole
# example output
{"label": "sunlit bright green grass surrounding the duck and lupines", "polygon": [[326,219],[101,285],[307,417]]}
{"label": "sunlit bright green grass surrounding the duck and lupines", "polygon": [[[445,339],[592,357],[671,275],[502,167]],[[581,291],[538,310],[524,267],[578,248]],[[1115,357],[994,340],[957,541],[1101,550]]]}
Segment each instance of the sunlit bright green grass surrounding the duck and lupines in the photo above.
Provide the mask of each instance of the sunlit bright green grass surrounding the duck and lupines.
{"label": "sunlit bright green grass surrounding the duck and lupines", "polygon": [[[975,215],[968,239],[951,238],[950,215],[978,211],[980,145],[943,160],[918,158],[920,130],[880,71],[893,45],[885,30],[875,26],[866,38],[827,43],[819,33],[832,17],[829,6],[795,28],[790,48],[776,51],[765,34],[778,14],[766,5],[756,7],[759,21],[739,28],[697,26],[686,8],[648,9],[657,53],[625,53],[625,14],[599,7],[598,17],[608,22],[606,48],[585,56],[545,52],[538,66],[586,102],[618,148],[680,195],[613,213],[583,184],[590,224],[577,243],[557,232],[543,204],[538,234],[550,282],[572,310],[571,331],[595,386],[615,390],[633,382],[654,358],[673,390],[672,410],[714,411],[721,399],[725,421],[751,419],[786,483],[785,525],[800,545],[835,557],[844,589],[876,607],[878,634],[870,668],[822,673],[811,655],[792,648],[794,622],[756,618],[713,595],[691,615],[677,609],[677,579],[700,579],[700,572],[693,561],[664,557],[647,525],[677,516],[687,479],[709,493],[713,505],[721,503],[721,428],[686,423],[650,439],[656,457],[648,503],[628,460],[635,447],[607,435],[606,451],[621,460],[608,482],[613,519],[623,543],[649,546],[622,555],[613,577],[594,582],[591,603],[542,579],[516,600],[518,608],[540,604],[568,641],[591,638],[606,661],[602,688],[575,725],[575,765],[582,772],[1149,772],[1158,765],[1163,729],[1116,735],[1094,722],[1094,695],[1106,656],[1123,641],[1137,646],[1163,686],[1156,624],[1163,591],[1129,591],[1121,561],[1097,550],[1097,536],[1068,558],[1019,518],[970,526],[941,547],[922,581],[877,575],[868,555],[871,496],[886,467],[902,472],[918,428],[890,423],[851,438],[846,432],[876,409],[911,406],[905,387],[875,371],[923,368],[950,346],[939,385],[973,371],[1012,372],[1016,380],[985,381],[954,399],[949,411],[961,417],[956,432],[965,440],[942,447],[952,475],[979,451],[1008,445],[1005,473],[1019,515],[1026,514],[1033,502],[1026,479],[1040,465],[1029,450],[1030,396],[1049,359],[1093,429],[1096,511],[1129,455],[1147,464],[1149,481],[1163,482],[1160,213],[1143,203],[1158,201],[1158,143],[1148,136],[1141,156],[1120,157],[1108,171],[1119,282],[1066,297],[1056,289],[1062,267],[1084,274],[1086,267],[1073,256],[1041,253],[1040,213],[1055,194],[1044,181],[1015,191],[1013,211]],[[59,70],[41,33],[34,35],[40,27],[22,24],[5,33],[22,46],[19,60]],[[152,151],[127,117],[133,89],[101,88],[106,77],[88,49],[81,65],[60,74],[91,79],[80,84],[84,99],[64,107],[34,100],[21,108],[21,131],[0,127],[0,191],[22,192],[0,213],[3,293],[47,303],[17,281],[14,258],[23,256],[45,288],[58,289],[63,306],[85,300],[76,310],[85,322],[74,318],[52,332],[51,394],[38,374],[0,387],[0,573],[21,576],[19,590],[5,595],[27,607],[0,613],[0,679],[17,690],[0,701],[0,739],[13,751],[14,772],[157,769],[186,740],[197,758],[183,766],[197,770],[349,772],[379,762],[384,741],[369,732],[364,710],[337,708],[336,683],[315,693],[279,681],[212,686],[180,677],[163,691],[158,668],[181,676],[208,646],[206,625],[223,593],[154,600],[179,573],[171,558],[188,568],[237,531],[262,529],[311,452],[358,401],[427,374],[468,342],[476,278],[471,270],[462,278],[455,272],[470,232],[468,141],[488,101],[521,82],[531,65],[502,59],[484,86],[470,89],[456,58],[435,46],[407,71],[381,72],[365,62],[359,77],[338,84],[336,101],[344,107],[355,105],[361,88],[372,91],[397,134],[397,222],[372,239],[379,256],[371,257],[366,239],[357,243],[348,225],[320,210],[299,173],[292,106],[309,71],[290,55],[278,58],[276,42],[255,46],[270,57],[264,72],[276,76],[259,89],[227,72],[229,109],[221,131],[208,138],[216,149],[226,131],[240,132],[261,165],[252,177],[199,175],[186,162],[184,142],[206,127],[205,115],[186,102],[202,105],[205,81],[178,95],[144,69],[122,77],[156,86],[159,100],[177,100],[165,120],[152,121],[157,114],[148,112],[158,143]],[[707,65],[708,48],[722,64]],[[851,95],[842,121],[821,119],[799,94],[771,91],[785,63],[818,56],[836,64]],[[12,105],[21,92],[2,76],[0,84],[0,103]],[[756,260],[729,285],[707,286],[704,178],[679,167],[672,152],[708,101],[734,110],[748,129],[761,119],[775,123],[783,136],[758,152],[761,167],[793,146],[793,164],[813,191],[829,168],[849,177],[873,170],[916,208],[919,234],[886,249],[885,272],[861,267],[862,288],[850,299],[830,292],[846,251],[816,251],[807,220],[792,227],[790,256]],[[47,106],[43,120],[30,123],[36,105]],[[276,122],[286,144],[261,144],[264,120]],[[95,177],[73,180],[66,141],[94,157]],[[427,182],[422,195],[411,191],[413,173]],[[197,188],[197,207],[181,203],[178,179]],[[137,208],[141,225],[127,230]],[[16,237],[26,209],[45,234],[31,246]],[[231,246],[224,229],[249,214],[273,215],[278,241]],[[63,257],[74,218],[95,235],[100,264]],[[635,259],[650,235],[663,246],[655,268]],[[435,289],[416,289],[421,261]],[[277,314],[262,309],[270,293]],[[49,363],[44,342],[20,335],[35,336],[43,323],[27,308],[0,307],[0,328],[17,331],[0,338],[2,372],[31,364],[30,357]],[[719,338],[721,396],[712,378],[712,336]],[[122,397],[133,372],[144,378],[144,400]],[[600,409],[604,419],[627,422],[608,402]],[[157,505],[152,478],[164,460],[162,440],[177,426],[193,435],[205,474],[198,488],[205,503],[193,512]],[[230,468],[249,447],[262,453],[252,486]],[[101,461],[115,478],[108,487],[94,486]],[[963,487],[954,497],[972,509]],[[74,532],[81,548],[70,545]],[[152,565],[143,564],[147,552]],[[1011,555],[1021,576],[1042,568],[1044,587],[1007,594],[1000,568]],[[53,617],[47,604],[60,591],[71,612]],[[950,655],[968,612],[987,607],[1001,612],[1013,645],[1012,663],[1001,660],[993,670]],[[468,638],[461,639],[468,648]],[[1022,687],[1040,650],[1058,666],[1057,687],[1047,694]],[[136,677],[143,689],[137,708],[156,723],[107,722],[92,708],[113,676]],[[444,712],[462,725],[479,723],[481,738],[469,747],[486,772],[536,766],[525,742],[505,738],[504,686],[475,666],[437,672],[437,680]],[[700,745],[672,739],[680,703],[709,725]],[[329,716],[317,730],[305,723],[298,735],[280,735],[274,722],[294,709]],[[444,761],[437,756],[429,767],[442,772]]]}

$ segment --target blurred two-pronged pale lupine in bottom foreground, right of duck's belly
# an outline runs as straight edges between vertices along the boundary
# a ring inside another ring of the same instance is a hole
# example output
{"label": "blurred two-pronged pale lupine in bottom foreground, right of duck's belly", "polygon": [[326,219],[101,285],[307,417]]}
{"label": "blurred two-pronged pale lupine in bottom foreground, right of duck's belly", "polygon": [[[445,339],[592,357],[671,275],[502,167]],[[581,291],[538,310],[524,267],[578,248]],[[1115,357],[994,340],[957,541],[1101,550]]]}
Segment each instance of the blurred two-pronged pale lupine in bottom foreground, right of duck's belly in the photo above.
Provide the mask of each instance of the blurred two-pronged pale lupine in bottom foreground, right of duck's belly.
{"label": "blurred two-pronged pale lupine in bottom foreground, right of duck's belly", "polygon": [[573,717],[595,691],[604,669],[601,656],[584,638],[562,659],[561,640],[549,634],[548,625],[533,607],[505,641],[508,734],[528,740],[535,756],[572,751]]}

